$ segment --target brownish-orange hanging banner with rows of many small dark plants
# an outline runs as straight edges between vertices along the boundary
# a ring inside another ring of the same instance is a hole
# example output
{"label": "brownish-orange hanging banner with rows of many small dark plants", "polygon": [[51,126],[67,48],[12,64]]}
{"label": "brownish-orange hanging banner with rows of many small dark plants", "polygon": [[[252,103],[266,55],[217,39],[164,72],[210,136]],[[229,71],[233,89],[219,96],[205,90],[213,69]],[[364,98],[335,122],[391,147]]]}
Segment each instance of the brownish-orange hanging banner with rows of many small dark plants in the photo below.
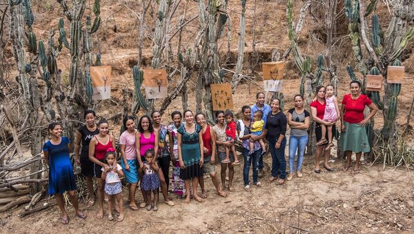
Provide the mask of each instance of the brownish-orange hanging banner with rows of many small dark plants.
{"label": "brownish-orange hanging banner with rows of many small dark plants", "polygon": [[233,110],[231,84],[210,84],[213,110]]}

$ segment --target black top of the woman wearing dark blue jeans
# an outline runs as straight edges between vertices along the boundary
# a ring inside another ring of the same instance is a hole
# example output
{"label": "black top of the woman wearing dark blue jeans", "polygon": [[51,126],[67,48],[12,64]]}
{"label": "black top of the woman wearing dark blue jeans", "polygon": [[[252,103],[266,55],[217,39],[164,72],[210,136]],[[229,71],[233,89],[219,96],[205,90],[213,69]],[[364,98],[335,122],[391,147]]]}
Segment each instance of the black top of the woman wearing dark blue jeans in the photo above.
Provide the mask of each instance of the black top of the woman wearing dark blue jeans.
{"label": "black top of the woman wearing dark blue jeans", "polygon": [[282,111],[279,111],[276,115],[271,112],[266,119],[267,139],[277,141],[279,135],[286,135],[286,124],[288,123],[286,115]]}

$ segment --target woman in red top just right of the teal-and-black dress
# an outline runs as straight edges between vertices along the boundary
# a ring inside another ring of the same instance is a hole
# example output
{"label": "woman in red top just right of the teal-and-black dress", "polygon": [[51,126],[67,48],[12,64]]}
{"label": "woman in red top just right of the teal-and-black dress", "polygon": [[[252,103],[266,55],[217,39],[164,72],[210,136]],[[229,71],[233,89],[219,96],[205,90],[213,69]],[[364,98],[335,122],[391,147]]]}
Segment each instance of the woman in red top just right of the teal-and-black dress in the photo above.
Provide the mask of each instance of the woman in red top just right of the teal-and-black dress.
{"label": "woman in red top just right of the teal-and-black dress", "polygon": [[[215,172],[215,153],[216,153],[216,144],[213,130],[211,130],[210,125],[206,123],[206,116],[203,113],[198,113],[195,115],[197,124],[201,127],[201,135],[203,139],[203,148],[204,148],[204,164],[203,172],[208,173],[213,181],[213,184],[217,190],[217,194],[221,197],[227,197],[227,194],[224,191],[221,191],[219,186],[219,179]],[[199,177],[199,183],[201,186],[201,198],[207,198],[207,193],[204,188],[204,177]]]}

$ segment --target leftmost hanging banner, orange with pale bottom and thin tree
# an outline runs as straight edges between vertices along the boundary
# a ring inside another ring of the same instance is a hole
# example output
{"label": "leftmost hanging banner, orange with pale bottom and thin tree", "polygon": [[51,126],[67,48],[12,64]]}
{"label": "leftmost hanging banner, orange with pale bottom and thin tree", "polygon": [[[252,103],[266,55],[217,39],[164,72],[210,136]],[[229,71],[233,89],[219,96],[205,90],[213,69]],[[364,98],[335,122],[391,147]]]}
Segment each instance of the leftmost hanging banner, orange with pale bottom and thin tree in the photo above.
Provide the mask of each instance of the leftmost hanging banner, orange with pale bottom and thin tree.
{"label": "leftmost hanging banner, orange with pale bottom and thin tree", "polygon": [[93,86],[92,99],[110,98],[110,66],[91,66],[90,79]]}

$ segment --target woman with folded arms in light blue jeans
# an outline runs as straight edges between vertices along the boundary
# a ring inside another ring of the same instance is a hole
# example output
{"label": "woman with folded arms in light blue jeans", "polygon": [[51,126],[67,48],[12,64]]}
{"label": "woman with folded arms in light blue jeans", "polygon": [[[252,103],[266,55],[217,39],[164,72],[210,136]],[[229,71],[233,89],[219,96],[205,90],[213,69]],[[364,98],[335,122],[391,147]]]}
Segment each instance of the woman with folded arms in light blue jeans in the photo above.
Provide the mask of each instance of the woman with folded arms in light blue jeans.
{"label": "woman with folded arms in light blue jeans", "polygon": [[288,180],[293,179],[295,175],[295,155],[297,151],[297,165],[296,175],[302,177],[302,164],[304,162],[304,155],[306,144],[308,144],[308,128],[311,115],[304,108],[304,97],[302,95],[295,95],[295,108],[288,111],[288,124],[290,126],[289,137],[289,175]]}

